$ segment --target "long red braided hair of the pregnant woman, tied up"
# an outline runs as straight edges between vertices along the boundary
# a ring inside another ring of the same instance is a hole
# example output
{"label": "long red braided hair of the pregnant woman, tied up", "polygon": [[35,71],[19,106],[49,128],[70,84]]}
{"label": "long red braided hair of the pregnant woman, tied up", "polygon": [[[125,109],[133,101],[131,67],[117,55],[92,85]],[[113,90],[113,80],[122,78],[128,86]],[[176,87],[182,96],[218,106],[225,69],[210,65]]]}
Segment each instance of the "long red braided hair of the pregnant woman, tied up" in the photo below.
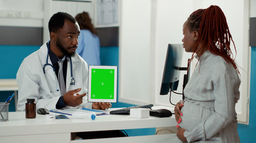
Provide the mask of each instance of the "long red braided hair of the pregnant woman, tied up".
{"label": "long red braided hair of the pregnant woman, tied up", "polygon": [[[230,40],[233,45],[234,42],[229,32],[226,17],[220,7],[210,6],[207,9],[199,9],[188,17],[187,22],[190,31],[198,31],[199,34],[197,43],[193,47],[191,60],[194,58],[196,51],[203,51],[205,47],[212,54],[222,56],[225,61],[232,64],[238,73],[240,73],[230,49]],[[198,49],[199,43],[202,44],[203,48]],[[237,54],[235,45],[234,50]],[[199,59],[200,57],[201,55],[199,55]]]}

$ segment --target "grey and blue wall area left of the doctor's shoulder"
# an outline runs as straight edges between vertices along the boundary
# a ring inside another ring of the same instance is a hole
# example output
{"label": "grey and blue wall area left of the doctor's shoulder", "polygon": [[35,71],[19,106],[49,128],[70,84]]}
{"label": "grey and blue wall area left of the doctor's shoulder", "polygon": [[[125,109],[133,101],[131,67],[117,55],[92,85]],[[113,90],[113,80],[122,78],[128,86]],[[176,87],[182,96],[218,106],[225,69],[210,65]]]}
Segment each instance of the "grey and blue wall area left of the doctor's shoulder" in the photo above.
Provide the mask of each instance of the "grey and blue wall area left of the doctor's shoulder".
{"label": "grey and blue wall area left of the doctor's shoulder", "polygon": [[[23,59],[39,49],[42,44],[42,28],[0,26],[0,31],[3,33],[0,36],[0,79],[16,78],[16,73]],[[12,91],[0,92],[0,102],[5,101],[12,93]],[[15,111],[14,100],[10,102],[9,111]]]}

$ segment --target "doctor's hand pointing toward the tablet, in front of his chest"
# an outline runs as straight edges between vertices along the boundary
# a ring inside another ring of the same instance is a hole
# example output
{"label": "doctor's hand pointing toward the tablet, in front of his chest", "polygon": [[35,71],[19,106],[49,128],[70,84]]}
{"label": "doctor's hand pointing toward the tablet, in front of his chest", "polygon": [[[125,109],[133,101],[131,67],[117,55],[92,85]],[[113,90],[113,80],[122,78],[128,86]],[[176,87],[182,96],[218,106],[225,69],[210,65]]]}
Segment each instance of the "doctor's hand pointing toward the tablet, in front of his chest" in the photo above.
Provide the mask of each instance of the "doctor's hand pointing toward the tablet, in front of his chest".
{"label": "doctor's hand pointing toward the tablet, in front of his chest", "polygon": [[78,93],[80,90],[81,90],[81,88],[76,89],[76,90],[71,90],[71,91],[68,91],[66,94],[63,95],[63,100],[64,100],[64,102],[67,106],[75,107],[75,106],[78,106],[82,103],[82,98],[84,96],[86,96],[86,93],[76,94],[76,96],[74,96],[74,94]]}

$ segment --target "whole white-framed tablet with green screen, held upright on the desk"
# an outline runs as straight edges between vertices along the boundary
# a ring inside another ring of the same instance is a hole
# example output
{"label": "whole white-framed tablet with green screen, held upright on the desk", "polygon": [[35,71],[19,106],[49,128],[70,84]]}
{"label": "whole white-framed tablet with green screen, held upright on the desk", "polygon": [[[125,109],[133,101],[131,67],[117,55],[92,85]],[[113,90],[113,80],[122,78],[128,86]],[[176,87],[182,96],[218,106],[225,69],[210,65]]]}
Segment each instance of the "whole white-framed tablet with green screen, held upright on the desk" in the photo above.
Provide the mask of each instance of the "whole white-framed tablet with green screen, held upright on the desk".
{"label": "whole white-framed tablet with green screen, held upright on the desk", "polygon": [[117,101],[117,66],[89,66],[88,102]]}

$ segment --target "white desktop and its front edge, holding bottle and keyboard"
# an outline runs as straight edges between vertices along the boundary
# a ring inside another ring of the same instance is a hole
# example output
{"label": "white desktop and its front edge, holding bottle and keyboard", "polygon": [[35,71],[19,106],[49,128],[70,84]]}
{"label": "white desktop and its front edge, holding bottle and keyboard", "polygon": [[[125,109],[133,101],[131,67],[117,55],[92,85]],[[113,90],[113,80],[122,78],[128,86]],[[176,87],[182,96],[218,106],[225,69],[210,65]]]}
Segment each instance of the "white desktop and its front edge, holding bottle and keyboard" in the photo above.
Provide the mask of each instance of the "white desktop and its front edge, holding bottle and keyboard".
{"label": "white desktop and its front edge, holding bottle and keyboard", "polygon": [[[55,113],[51,113],[55,115]],[[26,119],[25,112],[9,112],[9,121],[0,122],[0,136],[26,135],[61,132],[82,132],[117,129],[137,129],[176,126],[175,117],[143,119],[132,118],[129,115],[102,115],[96,120],[59,119],[47,121],[45,115],[36,115],[35,119]],[[36,130],[35,130],[36,128]]]}

